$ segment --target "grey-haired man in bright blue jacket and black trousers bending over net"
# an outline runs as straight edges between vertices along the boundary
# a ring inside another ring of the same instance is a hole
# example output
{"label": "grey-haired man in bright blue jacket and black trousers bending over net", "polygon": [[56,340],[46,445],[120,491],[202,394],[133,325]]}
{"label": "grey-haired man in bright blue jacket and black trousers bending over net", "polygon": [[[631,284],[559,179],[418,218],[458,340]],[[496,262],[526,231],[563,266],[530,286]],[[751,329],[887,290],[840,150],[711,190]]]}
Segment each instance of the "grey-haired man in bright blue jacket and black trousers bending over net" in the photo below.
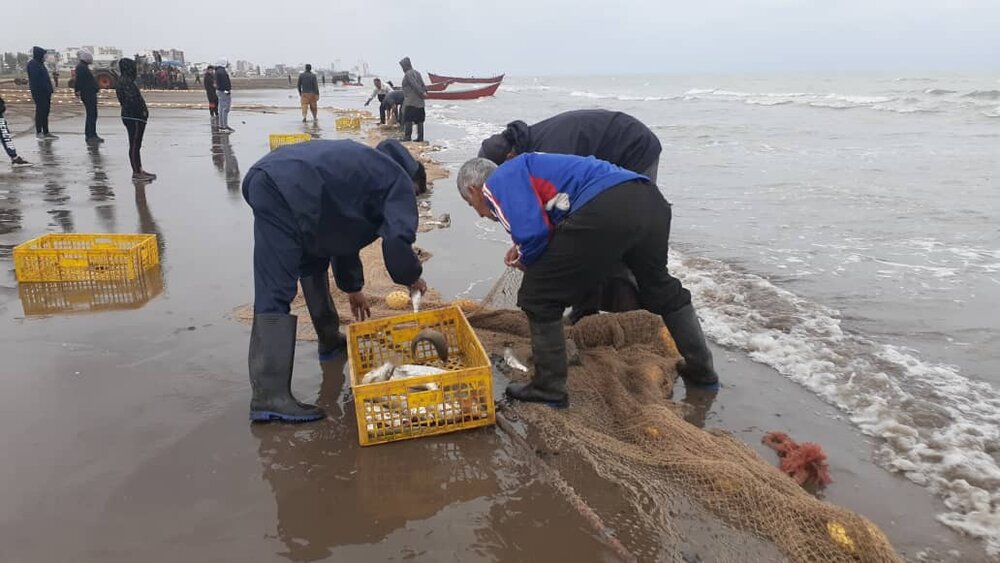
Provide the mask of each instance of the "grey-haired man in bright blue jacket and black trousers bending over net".
{"label": "grey-haired man in bright blue jacket and black trousers bending over net", "polygon": [[517,304],[531,323],[535,374],[508,386],[509,397],[569,405],[563,312],[619,262],[635,276],[643,308],[670,329],[685,383],[718,388],[691,294],[667,271],[670,204],[647,177],[594,157],[528,153],[499,167],[470,160],[458,188],[507,229],[514,246],[505,262],[524,270]]}

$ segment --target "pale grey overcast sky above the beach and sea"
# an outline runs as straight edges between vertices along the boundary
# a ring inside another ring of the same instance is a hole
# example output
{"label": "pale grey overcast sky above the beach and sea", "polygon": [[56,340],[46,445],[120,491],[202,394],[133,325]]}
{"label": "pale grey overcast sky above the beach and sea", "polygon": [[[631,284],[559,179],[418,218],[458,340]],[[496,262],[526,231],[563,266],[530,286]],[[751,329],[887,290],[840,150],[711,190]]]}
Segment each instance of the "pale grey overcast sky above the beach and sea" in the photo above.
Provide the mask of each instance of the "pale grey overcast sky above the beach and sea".
{"label": "pale grey overcast sky above the beach and sea", "polygon": [[[0,50],[179,48],[190,61],[444,74],[1000,70],[1000,0],[5,2]],[[94,6],[94,8],[88,8]],[[139,7],[141,6],[141,7]]]}

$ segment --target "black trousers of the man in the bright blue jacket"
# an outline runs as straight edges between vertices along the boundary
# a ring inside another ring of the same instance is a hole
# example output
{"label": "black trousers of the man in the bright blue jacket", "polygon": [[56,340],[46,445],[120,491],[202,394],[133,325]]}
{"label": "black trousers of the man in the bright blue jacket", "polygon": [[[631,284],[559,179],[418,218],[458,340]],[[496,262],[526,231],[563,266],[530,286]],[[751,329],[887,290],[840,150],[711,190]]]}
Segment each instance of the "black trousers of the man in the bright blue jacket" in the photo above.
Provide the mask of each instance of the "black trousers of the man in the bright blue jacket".
{"label": "black trousers of the man in the bright blue jacket", "polygon": [[667,271],[670,204],[646,182],[601,193],[560,223],[542,257],[529,266],[517,304],[535,322],[562,318],[624,262],[639,286],[642,308],[665,315],[691,303]]}

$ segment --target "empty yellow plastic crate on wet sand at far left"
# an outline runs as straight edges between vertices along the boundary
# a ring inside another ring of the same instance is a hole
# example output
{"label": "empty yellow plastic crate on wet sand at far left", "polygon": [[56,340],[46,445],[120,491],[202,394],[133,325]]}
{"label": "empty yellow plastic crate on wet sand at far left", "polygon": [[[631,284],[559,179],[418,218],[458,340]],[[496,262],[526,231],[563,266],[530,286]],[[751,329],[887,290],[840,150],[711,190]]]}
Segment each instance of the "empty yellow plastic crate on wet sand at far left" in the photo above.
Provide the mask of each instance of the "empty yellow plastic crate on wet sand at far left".
{"label": "empty yellow plastic crate on wet sand at far left", "polygon": [[48,234],[14,247],[18,282],[134,280],[159,263],[148,234]]}

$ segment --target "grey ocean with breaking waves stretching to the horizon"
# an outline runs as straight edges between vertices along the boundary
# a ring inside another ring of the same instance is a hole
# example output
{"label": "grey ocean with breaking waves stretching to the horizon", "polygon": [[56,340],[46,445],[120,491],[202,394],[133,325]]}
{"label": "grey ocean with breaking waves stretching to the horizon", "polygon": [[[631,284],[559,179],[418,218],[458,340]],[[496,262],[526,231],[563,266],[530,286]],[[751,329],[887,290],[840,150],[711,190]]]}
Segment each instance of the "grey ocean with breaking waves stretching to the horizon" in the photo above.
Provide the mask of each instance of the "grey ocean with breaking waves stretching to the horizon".
{"label": "grey ocean with breaking waves stretching to the horizon", "polygon": [[834,405],[1000,552],[1000,75],[512,77],[430,103],[428,135],[461,129],[465,158],[598,107],[663,144],[670,267],[707,334]]}

